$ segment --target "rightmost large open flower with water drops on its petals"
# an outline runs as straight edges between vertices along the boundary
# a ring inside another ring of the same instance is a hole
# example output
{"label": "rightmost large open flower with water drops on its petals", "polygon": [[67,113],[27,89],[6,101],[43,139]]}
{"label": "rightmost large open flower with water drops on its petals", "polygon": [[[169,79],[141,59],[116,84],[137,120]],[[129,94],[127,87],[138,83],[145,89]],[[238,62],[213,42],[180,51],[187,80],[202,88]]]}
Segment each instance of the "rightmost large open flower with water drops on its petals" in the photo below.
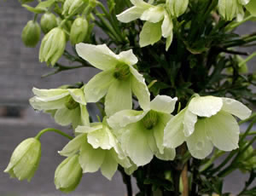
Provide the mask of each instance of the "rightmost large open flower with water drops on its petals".
{"label": "rightmost large open flower with water drops on its petals", "polygon": [[213,146],[222,151],[236,149],[239,125],[232,115],[245,119],[251,111],[230,98],[197,95],[166,125],[164,146],[175,148],[186,141],[197,159],[206,158]]}

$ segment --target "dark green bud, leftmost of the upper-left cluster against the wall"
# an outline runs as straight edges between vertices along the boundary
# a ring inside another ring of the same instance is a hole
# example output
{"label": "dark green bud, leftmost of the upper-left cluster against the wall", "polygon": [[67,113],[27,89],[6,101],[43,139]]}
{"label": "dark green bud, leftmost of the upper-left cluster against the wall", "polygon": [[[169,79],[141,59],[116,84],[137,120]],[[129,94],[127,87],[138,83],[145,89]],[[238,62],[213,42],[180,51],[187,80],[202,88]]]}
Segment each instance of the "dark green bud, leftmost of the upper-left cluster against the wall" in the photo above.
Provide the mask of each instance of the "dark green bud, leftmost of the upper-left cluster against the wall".
{"label": "dark green bud, leftmost of the upper-left cluster against the wall", "polygon": [[21,38],[26,47],[35,47],[40,40],[40,34],[38,22],[29,20],[22,31]]}

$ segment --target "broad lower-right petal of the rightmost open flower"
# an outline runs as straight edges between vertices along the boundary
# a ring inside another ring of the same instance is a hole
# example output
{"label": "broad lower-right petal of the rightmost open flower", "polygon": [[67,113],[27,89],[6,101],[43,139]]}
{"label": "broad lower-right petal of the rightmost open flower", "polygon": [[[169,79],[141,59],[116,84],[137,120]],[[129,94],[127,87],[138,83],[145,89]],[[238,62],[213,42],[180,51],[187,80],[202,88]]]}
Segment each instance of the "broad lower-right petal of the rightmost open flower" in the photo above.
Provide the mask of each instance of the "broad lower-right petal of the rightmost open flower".
{"label": "broad lower-right petal of the rightmost open flower", "polygon": [[231,151],[238,147],[239,125],[227,112],[218,112],[211,118],[205,118],[207,135],[215,147]]}

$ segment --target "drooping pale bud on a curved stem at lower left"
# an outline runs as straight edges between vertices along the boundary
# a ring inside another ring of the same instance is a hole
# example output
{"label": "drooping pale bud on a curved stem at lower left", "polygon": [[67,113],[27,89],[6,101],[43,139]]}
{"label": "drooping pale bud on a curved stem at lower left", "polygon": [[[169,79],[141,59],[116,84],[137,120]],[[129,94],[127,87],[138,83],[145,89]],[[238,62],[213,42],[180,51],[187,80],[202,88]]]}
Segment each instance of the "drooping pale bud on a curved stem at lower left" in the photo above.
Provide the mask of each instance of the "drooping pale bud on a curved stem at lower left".
{"label": "drooping pale bud on a curved stem at lower left", "polygon": [[18,178],[20,181],[27,179],[31,181],[41,158],[41,143],[35,138],[28,138],[22,141],[15,148],[8,167],[4,172],[11,177]]}

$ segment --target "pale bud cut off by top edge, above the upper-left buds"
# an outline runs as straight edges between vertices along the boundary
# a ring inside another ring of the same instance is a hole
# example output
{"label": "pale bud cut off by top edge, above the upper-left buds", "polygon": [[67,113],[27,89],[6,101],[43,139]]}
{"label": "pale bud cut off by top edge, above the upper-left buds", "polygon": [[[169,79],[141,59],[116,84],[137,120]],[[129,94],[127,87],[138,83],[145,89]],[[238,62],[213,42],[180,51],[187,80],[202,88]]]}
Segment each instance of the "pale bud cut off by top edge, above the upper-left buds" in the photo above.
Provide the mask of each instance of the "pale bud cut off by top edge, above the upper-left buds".
{"label": "pale bud cut off by top edge, above the upper-left buds", "polygon": [[66,0],[63,5],[63,15],[78,14],[85,8],[84,0]]}

